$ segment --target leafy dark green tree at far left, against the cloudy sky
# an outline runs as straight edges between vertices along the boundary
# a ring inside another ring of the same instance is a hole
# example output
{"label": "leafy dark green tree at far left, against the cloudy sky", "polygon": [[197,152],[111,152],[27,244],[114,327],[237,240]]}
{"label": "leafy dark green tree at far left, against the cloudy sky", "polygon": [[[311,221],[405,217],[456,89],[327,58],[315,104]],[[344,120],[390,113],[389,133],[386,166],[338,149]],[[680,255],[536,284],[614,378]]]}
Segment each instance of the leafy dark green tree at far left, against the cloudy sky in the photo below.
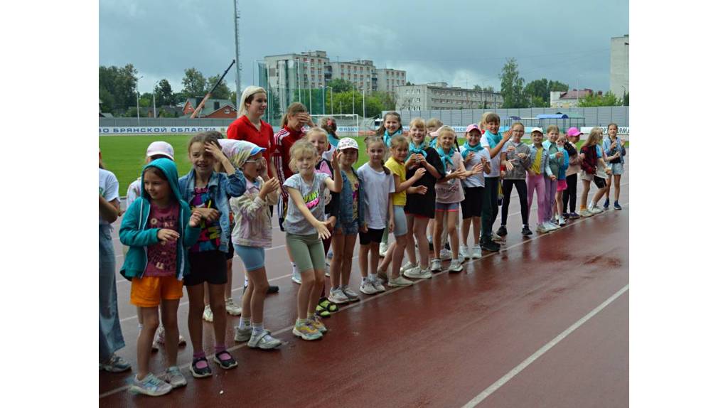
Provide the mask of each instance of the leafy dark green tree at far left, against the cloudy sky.
{"label": "leafy dark green tree at far left, against the cloudy sky", "polygon": [[124,111],[136,107],[137,71],[134,65],[123,68],[111,65],[98,67],[98,91],[104,111]]}

